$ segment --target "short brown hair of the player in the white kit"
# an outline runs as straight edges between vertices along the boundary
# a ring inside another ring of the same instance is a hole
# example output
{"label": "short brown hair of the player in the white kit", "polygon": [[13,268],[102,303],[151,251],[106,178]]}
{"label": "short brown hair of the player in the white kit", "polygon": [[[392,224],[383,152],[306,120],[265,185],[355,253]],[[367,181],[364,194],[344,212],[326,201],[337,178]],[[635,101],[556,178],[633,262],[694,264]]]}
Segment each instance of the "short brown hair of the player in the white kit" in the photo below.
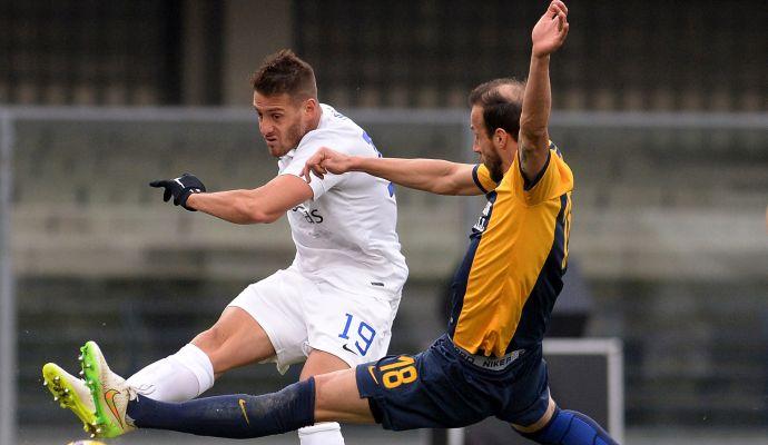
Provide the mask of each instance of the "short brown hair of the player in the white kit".
{"label": "short brown hair of the player in the white kit", "polygon": [[315,71],[289,49],[267,56],[250,77],[250,86],[265,96],[287,93],[299,100],[317,99]]}

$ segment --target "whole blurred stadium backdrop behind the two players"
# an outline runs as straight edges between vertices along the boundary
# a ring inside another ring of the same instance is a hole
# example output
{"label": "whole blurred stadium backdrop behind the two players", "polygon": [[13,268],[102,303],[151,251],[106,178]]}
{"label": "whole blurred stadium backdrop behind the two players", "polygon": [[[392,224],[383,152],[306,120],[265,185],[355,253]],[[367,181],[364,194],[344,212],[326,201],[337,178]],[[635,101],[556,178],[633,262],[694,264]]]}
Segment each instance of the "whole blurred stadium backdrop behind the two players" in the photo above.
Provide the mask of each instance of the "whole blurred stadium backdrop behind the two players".
{"label": "whole blurred stadium backdrop behind the two players", "polygon": [[[568,42],[552,59],[552,138],[577,178],[573,267],[552,330],[624,342],[629,427],[768,426],[766,4],[569,4]],[[472,160],[466,93],[524,77],[542,9],[1,0],[22,431],[71,423],[37,387],[45,362],[73,366],[95,338],[129,374],[291,261],[285,221],[236,227],[164,206],[146,187],[181,171],[211,189],[274,175],[244,108],[266,55],[289,47],[309,61],[321,100],[385,156]],[[391,350],[413,352],[443,326],[445,280],[480,204],[407,190],[398,202],[412,277]],[[216,390],[292,378],[252,367]]]}

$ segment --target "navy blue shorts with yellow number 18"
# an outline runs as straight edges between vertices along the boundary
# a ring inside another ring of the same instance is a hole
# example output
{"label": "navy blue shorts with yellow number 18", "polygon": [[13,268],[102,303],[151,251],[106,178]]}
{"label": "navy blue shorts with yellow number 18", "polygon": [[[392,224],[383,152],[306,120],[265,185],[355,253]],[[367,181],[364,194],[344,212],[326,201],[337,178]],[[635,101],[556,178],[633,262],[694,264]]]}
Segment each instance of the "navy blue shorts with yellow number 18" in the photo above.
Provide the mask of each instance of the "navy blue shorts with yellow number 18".
{"label": "navy blue shorts with yellow number 18", "polygon": [[394,431],[456,428],[490,416],[532,425],[549,404],[541,345],[490,370],[463,358],[444,335],[421,354],[358,365],[356,377],[376,422]]}

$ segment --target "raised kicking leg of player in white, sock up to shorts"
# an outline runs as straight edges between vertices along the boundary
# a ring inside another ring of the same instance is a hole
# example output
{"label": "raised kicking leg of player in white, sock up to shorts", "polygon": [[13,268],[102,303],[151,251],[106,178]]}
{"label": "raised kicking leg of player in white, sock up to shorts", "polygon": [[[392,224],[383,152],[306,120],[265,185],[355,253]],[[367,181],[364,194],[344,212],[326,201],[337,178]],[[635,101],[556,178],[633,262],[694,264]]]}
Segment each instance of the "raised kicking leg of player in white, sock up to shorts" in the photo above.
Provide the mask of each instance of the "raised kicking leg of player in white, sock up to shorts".
{"label": "raised kicking leg of player in white, sock up to shorts", "polygon": [[213,327],[177,354],[141,369],[129,385],[154,399],[188,400],[232,368],[275,355],[283,366],[304,358],[306,327],[297,301],[307,286],[312,283],[301,275],[278,270],[246,287]]}

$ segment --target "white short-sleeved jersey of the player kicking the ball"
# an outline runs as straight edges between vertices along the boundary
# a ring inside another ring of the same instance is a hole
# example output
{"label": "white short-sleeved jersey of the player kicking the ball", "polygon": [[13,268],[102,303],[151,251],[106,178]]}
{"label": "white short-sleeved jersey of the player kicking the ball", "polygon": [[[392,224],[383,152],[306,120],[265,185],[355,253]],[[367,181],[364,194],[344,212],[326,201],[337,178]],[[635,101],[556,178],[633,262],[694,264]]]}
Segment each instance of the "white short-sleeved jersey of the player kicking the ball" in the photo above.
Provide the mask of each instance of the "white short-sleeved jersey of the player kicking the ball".
{"label": "white short-sleeved jersey of the player kicking the ball", "polygon": [[[279,175],[301,177],[305,162],[321,147],[362,157],[380,154],[368,135],[333,107],[322,103],[317,129],[278,161]],[[292,265],[313,280],[352,294],[400,298],[407,278],[395,226],[394,186],[364,172],[313,176],[314,197],[287,211],[296,244]]]}

